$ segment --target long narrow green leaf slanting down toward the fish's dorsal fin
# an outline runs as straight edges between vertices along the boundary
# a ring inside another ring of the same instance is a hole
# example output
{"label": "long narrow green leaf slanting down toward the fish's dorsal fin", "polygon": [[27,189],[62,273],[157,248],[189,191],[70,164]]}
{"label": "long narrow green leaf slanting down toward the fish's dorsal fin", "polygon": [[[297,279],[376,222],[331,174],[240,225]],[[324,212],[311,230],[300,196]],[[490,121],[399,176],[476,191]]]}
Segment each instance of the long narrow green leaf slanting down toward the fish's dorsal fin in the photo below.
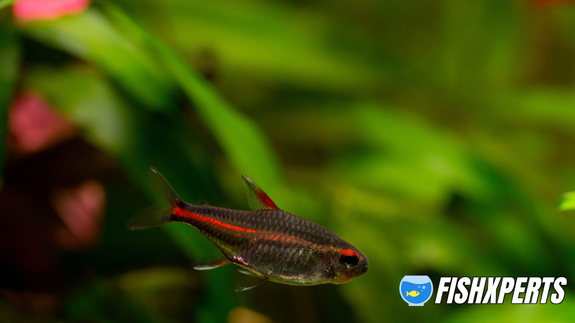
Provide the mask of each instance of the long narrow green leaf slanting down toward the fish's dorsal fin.
{"label": "long narrow green leaf slanting down toward the fish's dorsal fin", "polygon": [[159,39],[148,33],[113,5],[107,12],[130,34],[146,39],[155,49],[167,71],[179,83],[198,114],[209,126],[218,143],[239,174],[250,174],[262,187],[275,190],[279,183],[279,165],[263,132],[248,117],[234,109],[213,86]]}

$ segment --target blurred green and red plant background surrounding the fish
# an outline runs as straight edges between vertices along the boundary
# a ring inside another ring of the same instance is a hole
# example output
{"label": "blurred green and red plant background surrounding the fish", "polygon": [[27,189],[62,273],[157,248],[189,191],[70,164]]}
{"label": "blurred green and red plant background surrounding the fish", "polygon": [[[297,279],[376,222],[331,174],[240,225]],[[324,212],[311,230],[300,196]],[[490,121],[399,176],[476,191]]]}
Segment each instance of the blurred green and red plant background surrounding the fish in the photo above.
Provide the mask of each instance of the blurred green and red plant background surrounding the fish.
{"label": "blurred green and red plant background surrounding the fish", "polygon": [[[557,210],[575,189],[572,2],[122,0],[50,19],[11,2],[0,321],[575,318],[569,285],[559,305],[398,295],[404,275],[572,279],[575,214]],[[233,209],[247,174],[370,270],[236,293],[234,266],[191,270],[190,226],[125,230],[154,203],[150,166]]]}

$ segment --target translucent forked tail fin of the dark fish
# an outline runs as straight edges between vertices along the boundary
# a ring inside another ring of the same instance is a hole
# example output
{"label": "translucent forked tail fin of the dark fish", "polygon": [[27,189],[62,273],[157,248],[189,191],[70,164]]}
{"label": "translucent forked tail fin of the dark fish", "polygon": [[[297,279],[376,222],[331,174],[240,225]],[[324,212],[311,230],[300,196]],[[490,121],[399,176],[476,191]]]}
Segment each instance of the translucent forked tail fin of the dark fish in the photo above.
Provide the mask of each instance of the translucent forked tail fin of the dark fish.
{"label": "translucent forked tail fin of the dark fish", "polygon": [[164,175],[156,170],[156,168],[150,167],[148,176],[154,187],[154,193],[158,199],[158,203],[154,206],[146,207],[128,220],[126,224],[128,230],[154,228],[154,226],[170,222],[170,216],[174,206],[182,202],[182,199],[174,189],[172,189]]}

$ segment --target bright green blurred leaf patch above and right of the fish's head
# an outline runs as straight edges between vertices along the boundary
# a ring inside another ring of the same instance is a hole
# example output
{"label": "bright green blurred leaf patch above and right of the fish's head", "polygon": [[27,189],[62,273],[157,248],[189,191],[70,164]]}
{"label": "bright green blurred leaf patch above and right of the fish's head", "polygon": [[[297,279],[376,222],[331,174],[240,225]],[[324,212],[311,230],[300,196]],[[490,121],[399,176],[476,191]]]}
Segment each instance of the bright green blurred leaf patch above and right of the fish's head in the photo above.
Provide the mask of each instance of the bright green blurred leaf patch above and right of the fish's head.
{"label": "bright green blurred leaf patch above and right of the fish's head", "polygon": [[488,194],[488,183],[471,167],[457,137],[385,105],[360,104],[347,116],[364,150],[334,163],[334,178],[427,205],[443,203],[452,190],[473,197]]}

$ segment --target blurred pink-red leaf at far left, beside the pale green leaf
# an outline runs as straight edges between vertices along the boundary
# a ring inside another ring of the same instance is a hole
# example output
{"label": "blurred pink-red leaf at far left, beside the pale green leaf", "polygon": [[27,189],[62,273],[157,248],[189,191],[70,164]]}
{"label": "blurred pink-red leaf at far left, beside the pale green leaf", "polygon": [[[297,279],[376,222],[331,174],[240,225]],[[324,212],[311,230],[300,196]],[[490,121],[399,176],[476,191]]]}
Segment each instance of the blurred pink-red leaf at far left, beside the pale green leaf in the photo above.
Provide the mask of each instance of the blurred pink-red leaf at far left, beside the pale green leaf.
{"label": "blurred pink-red leaf at far left, beside the pale green leaf", "polygon": [[76,133],[74,126],[36,93],[22,93],[14,100],[8,123],[11,148],[26,153],[39,151]]}

